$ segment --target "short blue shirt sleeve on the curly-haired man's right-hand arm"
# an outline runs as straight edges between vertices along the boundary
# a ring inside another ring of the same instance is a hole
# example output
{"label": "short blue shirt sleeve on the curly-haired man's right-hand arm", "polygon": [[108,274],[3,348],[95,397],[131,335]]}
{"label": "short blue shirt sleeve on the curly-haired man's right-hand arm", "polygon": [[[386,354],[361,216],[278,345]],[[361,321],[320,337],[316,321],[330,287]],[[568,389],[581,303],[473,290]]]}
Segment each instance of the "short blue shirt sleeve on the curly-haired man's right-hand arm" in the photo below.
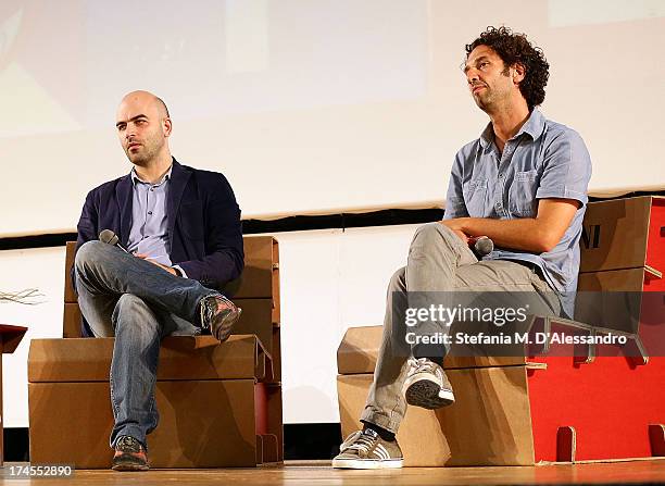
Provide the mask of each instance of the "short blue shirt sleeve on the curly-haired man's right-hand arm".
{"label": "short blue shirt sleeve on the curly-haired man's right-hand arm", "polygon": [[575,130],[562,130],[545,147],[536,199],[575,199],[584,205],[589,201],[590,178],[591,158],[585,141]]}

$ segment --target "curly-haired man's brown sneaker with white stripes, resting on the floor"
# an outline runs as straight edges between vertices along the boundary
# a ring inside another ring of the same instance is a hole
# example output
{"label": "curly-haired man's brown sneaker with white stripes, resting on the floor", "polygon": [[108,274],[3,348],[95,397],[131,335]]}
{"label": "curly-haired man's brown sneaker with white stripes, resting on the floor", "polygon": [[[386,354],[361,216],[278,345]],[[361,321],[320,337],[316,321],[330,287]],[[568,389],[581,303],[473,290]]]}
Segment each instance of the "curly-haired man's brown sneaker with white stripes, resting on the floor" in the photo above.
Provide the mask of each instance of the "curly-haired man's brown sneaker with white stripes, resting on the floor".
{"label": "curly-haired man's brown sneaker with white stripes, resting on the floor", "polygon": [[372,428],[356,431],[339,446],[332,468],[339,469],[398,469],[404,463],[397,440],[389,443]]}

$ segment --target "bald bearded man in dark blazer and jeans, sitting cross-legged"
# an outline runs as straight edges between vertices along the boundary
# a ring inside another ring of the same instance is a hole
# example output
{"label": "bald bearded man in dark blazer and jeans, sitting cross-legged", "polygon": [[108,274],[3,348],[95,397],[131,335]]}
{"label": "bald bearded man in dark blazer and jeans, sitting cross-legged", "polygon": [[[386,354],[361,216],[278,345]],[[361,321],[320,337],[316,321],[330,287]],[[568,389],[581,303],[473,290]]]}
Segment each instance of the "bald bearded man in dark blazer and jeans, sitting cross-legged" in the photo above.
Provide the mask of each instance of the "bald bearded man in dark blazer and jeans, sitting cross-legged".
{"label": "bald bearded man in dark blazer and jeans, sitting cross-legged", "polygon": [[[166,104],[125,96],[115,126],[129,174],[92,189],[78,222],[73,282],[84,335],[115,337],[111,363],[113,469],[149,469],[146,436],[158,425],[160,341],[228,338],[240,315],[223,294],[242,272],[240,209],[224,175],[172,157]],[[118,245],[98,240],[110,229]]]}

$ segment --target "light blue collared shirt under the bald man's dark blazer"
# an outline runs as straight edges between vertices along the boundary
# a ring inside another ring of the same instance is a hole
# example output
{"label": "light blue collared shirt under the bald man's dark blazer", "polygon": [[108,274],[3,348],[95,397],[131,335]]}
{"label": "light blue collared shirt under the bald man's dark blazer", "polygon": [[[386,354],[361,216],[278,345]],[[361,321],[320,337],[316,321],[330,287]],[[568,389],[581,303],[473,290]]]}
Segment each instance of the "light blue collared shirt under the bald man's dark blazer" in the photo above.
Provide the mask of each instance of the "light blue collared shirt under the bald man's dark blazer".
{"label": "light blue collared shirt under the bald man's dark blazer", "polygon": [[130,253],[145,253],[162,265],[171,266],[168,248],[168,180],[171,169],[156,184],[141,180],[131,169],[134,195],[131,201],[131,229],[127,241]]}

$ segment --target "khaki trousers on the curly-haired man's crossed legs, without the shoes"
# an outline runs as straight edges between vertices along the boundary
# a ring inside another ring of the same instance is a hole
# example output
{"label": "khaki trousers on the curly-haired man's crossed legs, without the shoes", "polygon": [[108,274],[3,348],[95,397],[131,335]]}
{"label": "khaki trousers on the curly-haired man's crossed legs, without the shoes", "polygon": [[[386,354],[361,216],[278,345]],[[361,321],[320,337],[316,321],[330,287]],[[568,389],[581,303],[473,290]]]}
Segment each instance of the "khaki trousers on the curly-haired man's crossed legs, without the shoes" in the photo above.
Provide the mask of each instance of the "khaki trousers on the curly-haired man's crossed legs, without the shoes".
{"label": "khaki trousers on the curly-haired man's crossed legs, without the shoes", "polygon": [[[504,306],[511,304],[511,292],[524,301],[529,297],[531,314],[560,315],[556,294],[528,266],[505,260],[480,260],[451,229],[429,223],[416,229],[409,249],[406,266],[399,269],[388,285],[381,347],[361,420],[397,433],[406,413],[402,385],[411,354],[406,344],[407,326],[403,307],[426,306],[421,292],[500,291]],[[416,292],[416,294],[414,294]],[[450,294],[449,294],[450,292]],[[454,302],[451,302],[454,306]],[[454,407],[454,406],[453,406]]]}

